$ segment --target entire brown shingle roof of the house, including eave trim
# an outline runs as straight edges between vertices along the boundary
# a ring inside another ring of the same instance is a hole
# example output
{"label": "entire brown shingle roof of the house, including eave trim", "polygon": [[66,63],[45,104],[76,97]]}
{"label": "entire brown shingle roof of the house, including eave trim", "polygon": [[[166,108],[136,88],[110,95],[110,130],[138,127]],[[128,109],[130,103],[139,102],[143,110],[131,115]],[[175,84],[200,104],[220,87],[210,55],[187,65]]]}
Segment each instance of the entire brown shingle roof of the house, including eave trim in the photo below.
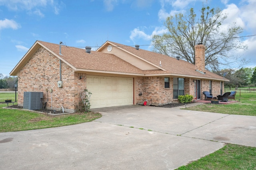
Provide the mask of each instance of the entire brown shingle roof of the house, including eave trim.
{"label": "entire brown shingle roof of the house, including eave trim", "polygon": [[[188,63],[183,60],[177,60],[173,57],[168,57],[159,53],[154,53],[151,51],[146,51],[143,49],[136,50],[134,47],[125,46],[122,44],[107,41],[105,45],[114,45],[123,51],[128,51],[128,53],[134,55],[135,57],[146,60],[148,63],[160,66],[163,70],[141,70],[140,68],[120,59],[118,56],[109,53],[102,53],[99,51],[91,51],[91,53],[86,53],[85,49],[80,49],[76,47],[68,47],[62,45],[60,55],[60,45],[47,43],[44,41],[36,41],[36,43],[30,48],[28,53],[21,59],[21,61],[12,70],[12,75],[17,75],[18,70],[26,63],[26,59],[30,56],[30,53],[39,45],[46,48],[48,51],[57,55],[62,61],[66,62],[75,71],[90,71],[90,72],[106,72],[112,74],[127,74],[127,75],[138,75],[138,76],[180,76],[180,77],[192,77],[192,78],[205,78],[209,80],[224,80],[228,79],[218,76],[210,71],[205,70],[206,74],[202,74],[195,70],[195,65]],[[106,47],[100,47],[106,48]]]}

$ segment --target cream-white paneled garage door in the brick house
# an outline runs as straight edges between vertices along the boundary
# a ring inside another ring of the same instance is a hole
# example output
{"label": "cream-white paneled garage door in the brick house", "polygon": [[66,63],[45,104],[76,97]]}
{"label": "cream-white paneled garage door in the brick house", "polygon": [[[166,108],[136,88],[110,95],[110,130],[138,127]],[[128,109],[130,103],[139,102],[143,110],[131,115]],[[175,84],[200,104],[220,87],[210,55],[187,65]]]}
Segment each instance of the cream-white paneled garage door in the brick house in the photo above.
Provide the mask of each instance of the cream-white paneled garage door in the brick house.
{"label": "cream-white paneled garage door in the brick house", "polygon": [[133,104],[133,78],[87,75],[86,88],[91,109]]}

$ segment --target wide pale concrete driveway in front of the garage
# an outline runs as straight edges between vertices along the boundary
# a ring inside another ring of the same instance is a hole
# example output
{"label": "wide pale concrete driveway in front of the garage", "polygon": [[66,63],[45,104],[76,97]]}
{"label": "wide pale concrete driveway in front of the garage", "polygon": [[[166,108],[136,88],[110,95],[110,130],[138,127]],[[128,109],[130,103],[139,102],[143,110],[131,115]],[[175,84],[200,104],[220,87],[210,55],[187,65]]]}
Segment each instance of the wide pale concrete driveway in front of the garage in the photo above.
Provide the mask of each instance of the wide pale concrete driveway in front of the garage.
{"label": "wide pale concrete driveway in front of the garage", "polygon": [[256,116],[175,108],[103,109],[89,123],[0,133],[0,169],[175,169],[225,143],[256,147]]}

